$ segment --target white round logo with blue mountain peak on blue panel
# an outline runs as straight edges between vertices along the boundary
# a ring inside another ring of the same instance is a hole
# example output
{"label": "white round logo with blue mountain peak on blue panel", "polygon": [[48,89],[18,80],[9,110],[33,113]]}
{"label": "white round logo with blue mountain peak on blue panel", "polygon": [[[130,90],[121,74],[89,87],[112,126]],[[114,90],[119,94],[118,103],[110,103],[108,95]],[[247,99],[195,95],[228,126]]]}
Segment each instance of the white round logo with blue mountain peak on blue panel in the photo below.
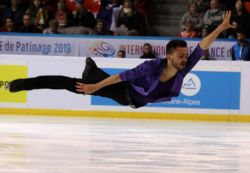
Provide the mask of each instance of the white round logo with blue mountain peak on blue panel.
{"label": "white round logo with blue mountain peak on blue panel", "polygon": [[201,81],[194,73],[188,73],[183,80],[181,93],[185,96],[194,96],[201,89]]}

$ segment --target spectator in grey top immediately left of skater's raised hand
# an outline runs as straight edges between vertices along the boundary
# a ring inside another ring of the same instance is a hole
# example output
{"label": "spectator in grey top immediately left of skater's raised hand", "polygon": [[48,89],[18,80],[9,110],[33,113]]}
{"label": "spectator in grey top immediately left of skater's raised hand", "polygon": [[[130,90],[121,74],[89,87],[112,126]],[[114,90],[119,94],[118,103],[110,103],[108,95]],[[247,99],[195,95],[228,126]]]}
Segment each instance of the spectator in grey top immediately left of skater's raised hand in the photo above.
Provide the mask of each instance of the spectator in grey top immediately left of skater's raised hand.
{"label": "spectator in grey top immediately left of skater's raised hand", "polygon": [[218,0],[210,1],[210,9],[206,11],[203,24],[208,25],[211,30],[214,30],[223,20],[223,11],[220,9]]}

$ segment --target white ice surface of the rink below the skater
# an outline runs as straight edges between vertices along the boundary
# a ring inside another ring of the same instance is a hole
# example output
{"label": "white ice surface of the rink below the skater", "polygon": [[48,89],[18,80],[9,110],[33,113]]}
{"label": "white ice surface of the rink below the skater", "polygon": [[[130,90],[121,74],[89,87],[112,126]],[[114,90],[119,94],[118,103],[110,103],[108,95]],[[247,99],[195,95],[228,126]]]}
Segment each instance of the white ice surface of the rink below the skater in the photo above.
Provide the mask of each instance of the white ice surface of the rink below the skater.
{"label": "white ice surface of the rink below the skater", "polygon": [[250,124],[0,116],[0,173],[246,173]]}

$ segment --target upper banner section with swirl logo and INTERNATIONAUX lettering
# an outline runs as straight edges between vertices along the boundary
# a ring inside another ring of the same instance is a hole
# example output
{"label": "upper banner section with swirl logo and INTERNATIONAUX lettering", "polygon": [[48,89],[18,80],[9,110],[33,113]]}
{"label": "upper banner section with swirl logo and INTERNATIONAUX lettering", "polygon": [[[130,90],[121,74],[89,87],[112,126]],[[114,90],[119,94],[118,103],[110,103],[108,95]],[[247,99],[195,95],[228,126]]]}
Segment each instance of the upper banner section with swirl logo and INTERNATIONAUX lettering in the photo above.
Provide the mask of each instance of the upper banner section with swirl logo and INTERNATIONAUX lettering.
{"label": "upper banner section with swirl logo and INTERNATIONAUX lettering", "polygon": [[[159,38],[158,38],[159,39]],[[200,40],[187,40],[189,53],[191,53],[198,45]],[[160,57],[166,57],[166,44],[169,39],[109,39],[109,38],[93,38],[81,39],[80,56],[94,57],[116,57],[119,50],[126,52],[127,58],[140,58],[143,54],[143,45],[150,43],[154,53]],[[235,44],[232,41],[217,41],[209,48],[209,57],[212,60],[231,60],[231,48]]]}

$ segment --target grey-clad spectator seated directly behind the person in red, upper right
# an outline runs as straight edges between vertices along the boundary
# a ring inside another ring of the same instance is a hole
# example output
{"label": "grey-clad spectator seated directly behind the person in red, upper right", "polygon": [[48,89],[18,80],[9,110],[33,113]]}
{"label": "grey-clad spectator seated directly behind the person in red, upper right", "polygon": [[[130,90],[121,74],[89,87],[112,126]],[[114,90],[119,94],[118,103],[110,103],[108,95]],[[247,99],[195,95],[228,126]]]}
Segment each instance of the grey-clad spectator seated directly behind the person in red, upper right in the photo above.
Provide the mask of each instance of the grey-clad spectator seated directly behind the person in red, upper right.
{"label": "grey-clad spectator seated directly behind the person in red, upper right", "polygon": [[181,30],[185,30],[186,23],[192,22],[194,25],[194,29],[196,31],[200,31],[202,28],[202,14],[198,13],[197,11],[197,5],[195,2],[188,4],[188,11],[184,13],[184,15],[181,18],[180,26]]}

